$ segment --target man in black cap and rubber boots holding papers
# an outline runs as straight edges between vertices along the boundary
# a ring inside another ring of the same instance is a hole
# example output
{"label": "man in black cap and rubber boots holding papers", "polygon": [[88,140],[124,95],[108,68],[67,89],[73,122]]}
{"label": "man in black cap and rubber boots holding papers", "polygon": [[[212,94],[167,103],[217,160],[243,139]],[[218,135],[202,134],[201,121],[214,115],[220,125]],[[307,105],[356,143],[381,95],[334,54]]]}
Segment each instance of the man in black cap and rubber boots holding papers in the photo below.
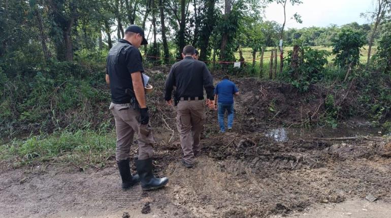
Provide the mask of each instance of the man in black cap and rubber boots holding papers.
{"label": "man in black cap and rubber boots holding papers", "polygon": [[[115,119],[117,143],[115,157],[122,178],[122,189],[141,183],[142,190],[158,189],[168,183],[168,178],[156,178],[152,173],[152,128],[142,72],[141,53],[138,48],[148,42],[144,30],[130,25],[123,39],[110,49],[107,57],[106,82],[110,84],[110,111]],[[129,153],[135,132],[138,135],[139,156],[136,161],[138,174],[131,174]]]}

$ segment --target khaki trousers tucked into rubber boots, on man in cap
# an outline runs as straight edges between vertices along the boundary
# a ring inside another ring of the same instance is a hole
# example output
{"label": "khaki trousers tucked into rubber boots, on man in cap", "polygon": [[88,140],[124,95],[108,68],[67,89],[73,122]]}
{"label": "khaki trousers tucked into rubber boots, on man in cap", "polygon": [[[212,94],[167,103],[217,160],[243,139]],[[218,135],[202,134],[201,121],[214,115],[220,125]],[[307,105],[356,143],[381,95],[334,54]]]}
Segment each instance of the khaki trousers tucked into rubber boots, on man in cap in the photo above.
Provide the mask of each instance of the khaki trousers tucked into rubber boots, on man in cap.
{"label": "khaki trousers tucked into rubber boots, on man in cap", "polygon": [[117,133],[115,159],[120,161],[129,158],[135,132],[138,135],[139,160],[152,158],[152,145],[155,142],[152,127],[149,123],[146,125],[139,123],[140,112],[134,110],[129,103],[111,103],[110,111],[115,119],[115,131]]}

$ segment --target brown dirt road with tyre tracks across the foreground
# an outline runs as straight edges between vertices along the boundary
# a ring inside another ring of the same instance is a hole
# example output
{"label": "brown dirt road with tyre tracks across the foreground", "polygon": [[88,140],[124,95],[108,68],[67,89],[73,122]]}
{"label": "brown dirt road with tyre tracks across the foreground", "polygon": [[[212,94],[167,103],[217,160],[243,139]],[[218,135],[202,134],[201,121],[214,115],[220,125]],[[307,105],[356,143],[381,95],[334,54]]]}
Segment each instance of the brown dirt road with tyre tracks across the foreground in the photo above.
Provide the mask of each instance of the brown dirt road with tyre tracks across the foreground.
{"label": "brown dirt road with tyre tracks across the foreground", "polygon": [[[233,157],[217,160],[209,157],[213,152],[204,152],[193,169],[184,168],[180,156],[158,161],[159,173],[168,175],[170,183],[153,192],[141,192],[139,186],[121,191],[114,162],[99,171],[50,164],[3,171],[0,217],[121,217],[123,212],[129,217],[335,217],[343,211],[386,217],[389,212],[389,158],[288,169],[282,167],[284,160],[257,165]],[[369,193],[379,200],[367,208],[362,205]]]}

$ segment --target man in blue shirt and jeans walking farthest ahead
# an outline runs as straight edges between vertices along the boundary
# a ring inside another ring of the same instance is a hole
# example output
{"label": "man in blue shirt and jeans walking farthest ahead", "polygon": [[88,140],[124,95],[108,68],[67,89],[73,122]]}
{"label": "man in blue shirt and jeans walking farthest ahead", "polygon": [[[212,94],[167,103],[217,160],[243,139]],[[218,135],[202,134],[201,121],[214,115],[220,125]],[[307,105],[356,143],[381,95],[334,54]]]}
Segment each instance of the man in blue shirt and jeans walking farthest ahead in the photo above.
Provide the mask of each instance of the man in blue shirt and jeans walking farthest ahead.
{"label": "man in blue shirt and jeans walking farthest ahead", "polygon": [[[222,81],[217,84],[214,90],[215,110],[218,114],[218,123],[220,132],[225,132],[224,113],[227,111],[228,131],[232,131],[234,122],[234,95],[239,95],[239,90],[236,85],[230,81],[228,76],[224,76]],[[218,102],[218,104],[216,104]],[[217,108],[218,105],[218,108]]]}

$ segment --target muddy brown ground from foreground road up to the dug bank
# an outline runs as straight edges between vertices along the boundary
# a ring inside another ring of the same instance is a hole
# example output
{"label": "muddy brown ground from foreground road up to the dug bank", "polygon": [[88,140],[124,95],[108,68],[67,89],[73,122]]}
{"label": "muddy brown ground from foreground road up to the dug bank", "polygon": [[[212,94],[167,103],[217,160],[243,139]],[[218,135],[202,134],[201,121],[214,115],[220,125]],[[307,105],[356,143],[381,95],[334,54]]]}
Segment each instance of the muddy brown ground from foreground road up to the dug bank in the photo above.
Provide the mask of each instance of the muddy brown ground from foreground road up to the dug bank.
{"label": "muddy brown ground from foreground road up to the dug bank", "polygon": [[[85,171],[50,162],[10,169],[4,161],[0,217],[387,217],[389,138],[276,141],[268,129],[316,122],[330,90],[300,94],[286,84],[235,82],[241,96],[234,131],[219,134],[217,115],[207,110],[202,155],[192,169],[180,163],[175,111],[161,102],[161,89],[150,96],[155,173],[170,178],[165,189],[122,191],[114,160]],[[340,105],[351,104],[343,99]]]}

